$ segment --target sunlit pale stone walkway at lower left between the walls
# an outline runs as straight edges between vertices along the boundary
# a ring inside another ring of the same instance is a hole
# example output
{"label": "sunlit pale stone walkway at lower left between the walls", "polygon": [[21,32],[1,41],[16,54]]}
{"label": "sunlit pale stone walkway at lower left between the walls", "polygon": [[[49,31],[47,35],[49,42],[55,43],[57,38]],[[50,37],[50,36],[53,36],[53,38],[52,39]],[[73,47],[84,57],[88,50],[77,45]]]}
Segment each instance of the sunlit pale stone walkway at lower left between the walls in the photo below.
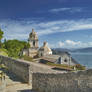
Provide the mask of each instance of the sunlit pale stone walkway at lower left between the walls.
{"label": "sunlit pale stone walkway at lower left between the walls", "polygon": [[4,71],[6,74],[6,92],[33,92],[31,85],[23,83],[14,74],[6,70],[2,71]]}

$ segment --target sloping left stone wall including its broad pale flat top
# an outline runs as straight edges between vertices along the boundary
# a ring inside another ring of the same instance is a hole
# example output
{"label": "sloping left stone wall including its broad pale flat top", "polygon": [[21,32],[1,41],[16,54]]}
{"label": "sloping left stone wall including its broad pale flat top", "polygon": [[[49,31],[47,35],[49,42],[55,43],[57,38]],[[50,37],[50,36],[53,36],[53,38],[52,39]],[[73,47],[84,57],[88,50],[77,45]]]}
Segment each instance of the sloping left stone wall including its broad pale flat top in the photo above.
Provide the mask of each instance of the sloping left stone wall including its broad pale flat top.
{"label": "sloping left stone wall including its broad pale flat top", "polygon": [[38,63],[28,62],[24,60],[16,60],[5,56],[0,56],[0,61],[2,61],[2,63],[8,67],[10,72],[14,73],[24,82],[27,82],[29,84],[32,83],[32,73],[58,72],[56,70],[52,70],[50,67],[46,65],[41,65]]}

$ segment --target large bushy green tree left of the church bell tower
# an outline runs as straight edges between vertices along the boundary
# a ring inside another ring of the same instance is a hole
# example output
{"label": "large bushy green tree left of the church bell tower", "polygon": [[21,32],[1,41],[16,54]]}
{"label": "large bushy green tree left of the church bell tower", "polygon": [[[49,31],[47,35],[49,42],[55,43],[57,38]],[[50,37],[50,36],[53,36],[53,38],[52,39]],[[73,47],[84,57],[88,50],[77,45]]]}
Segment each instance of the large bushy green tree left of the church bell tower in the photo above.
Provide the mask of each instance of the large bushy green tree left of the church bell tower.
{"label": "large bushy green tree left of the church bell tower", "polygon": [[19,41],[19,40],[8,40],[4,42],[5,49],[8,51],[8,56],[18,58],[20,55],[20,52],[23,49],[29,48],[29,44],[25,41]]}

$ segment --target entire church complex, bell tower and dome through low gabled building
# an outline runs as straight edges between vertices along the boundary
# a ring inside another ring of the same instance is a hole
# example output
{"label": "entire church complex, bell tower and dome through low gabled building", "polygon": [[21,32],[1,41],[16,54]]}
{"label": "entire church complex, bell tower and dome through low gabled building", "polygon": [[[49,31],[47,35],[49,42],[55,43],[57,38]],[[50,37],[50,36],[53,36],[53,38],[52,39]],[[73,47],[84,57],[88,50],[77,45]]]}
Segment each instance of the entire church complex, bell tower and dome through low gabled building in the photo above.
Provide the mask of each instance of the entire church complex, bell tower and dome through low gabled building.
{"label": "entire church complex, bell tower and dome through low gabled building", "polygon": [[41,63],[52,62],[55,64],[67,65],[79,64],[68,52],[61,52],[60,55],[54,55],[52,50],[48,47],[47,42],[44,42],[43,46],[39,48],[38,36],[34,29],[32,29],[32,32],[29,34],[28,43],[30,44],[30,48],[24,49],[22,54],[32,58],[39,57]]}

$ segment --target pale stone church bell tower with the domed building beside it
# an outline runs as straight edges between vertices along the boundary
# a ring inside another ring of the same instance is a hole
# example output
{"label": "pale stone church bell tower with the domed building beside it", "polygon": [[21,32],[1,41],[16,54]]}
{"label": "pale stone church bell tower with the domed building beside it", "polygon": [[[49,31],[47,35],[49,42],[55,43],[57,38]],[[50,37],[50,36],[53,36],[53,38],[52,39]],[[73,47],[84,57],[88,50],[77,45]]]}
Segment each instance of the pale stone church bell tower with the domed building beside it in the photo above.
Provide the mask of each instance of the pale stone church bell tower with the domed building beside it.
{"label": "pale stone church bell tower with the domed building beside it", "polygon": [[30,44],[30,48],[24,49],[23,55],[34,58],[52,54],[52,50],[48,47],[47,42],[44,42],[43,46],[39,48],[38,36],[34,29],[32,29],[32,32],[29,34],[28,43]]}

